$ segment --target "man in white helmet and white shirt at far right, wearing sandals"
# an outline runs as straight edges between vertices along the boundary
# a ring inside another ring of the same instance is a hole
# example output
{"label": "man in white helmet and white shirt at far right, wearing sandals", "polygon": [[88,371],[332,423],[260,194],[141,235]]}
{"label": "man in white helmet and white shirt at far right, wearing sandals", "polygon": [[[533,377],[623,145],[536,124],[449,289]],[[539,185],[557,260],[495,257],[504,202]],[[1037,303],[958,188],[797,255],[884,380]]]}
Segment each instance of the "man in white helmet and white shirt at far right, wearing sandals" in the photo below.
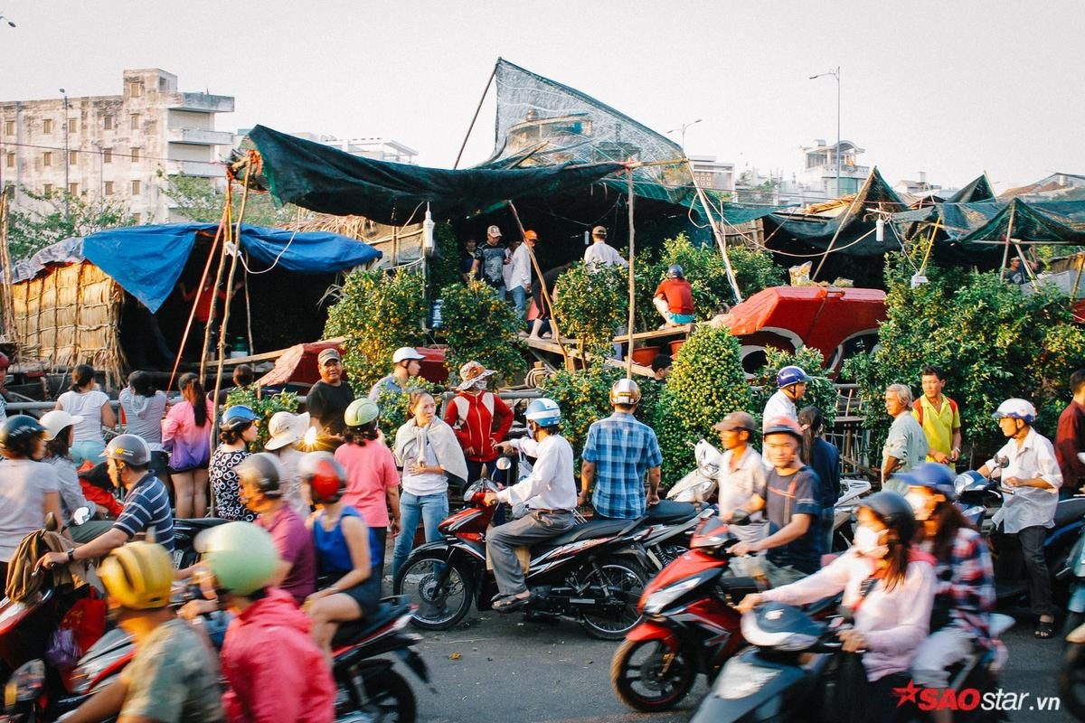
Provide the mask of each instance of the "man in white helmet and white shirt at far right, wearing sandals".
{"label": "man in white helmet and white shirt at far right, wearing sandals", "polygon": [[[1033,612],[1038,617],[1035,634],[1036,637],[1050,637],[1055,606],[1051,603],[1051,579],[1044,558],[1044,539],[1047,528],[1055,525],[1062,473],[1055,460],[1055,447],[1032,426],[1036,421],[1036,408],[1032,402],[1007,399],[998,405],[994,418],[1009,441],[979,472],[984,477],[1001,475],[1001,486],[1007,494],[992,521],[995,529],[1001,528],[1001,534],[1006,535],[1004,543],[1016,539],[1020,544],[1029,598]],[[1016,553],[1017,545],[1004,544],[1003,550]],[[1005,578],[1006,574],[1017,577],[1014,568],[1010,567],[1018,561],[1013,557],[1016,554],[998,556],[996,578]]]}

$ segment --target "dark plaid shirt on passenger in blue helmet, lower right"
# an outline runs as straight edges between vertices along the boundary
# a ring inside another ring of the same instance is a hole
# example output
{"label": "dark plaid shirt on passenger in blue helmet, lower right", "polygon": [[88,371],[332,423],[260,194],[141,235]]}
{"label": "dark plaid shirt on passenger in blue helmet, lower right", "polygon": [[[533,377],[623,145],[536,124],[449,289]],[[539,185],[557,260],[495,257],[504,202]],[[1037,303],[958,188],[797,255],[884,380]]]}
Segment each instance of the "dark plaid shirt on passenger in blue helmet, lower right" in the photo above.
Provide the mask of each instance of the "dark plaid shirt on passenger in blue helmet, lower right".
{"label": "dark plaid shirt on passenger in blue helmet, lower right", "polygon": [[[928,544],[924,550],[932,552]],[[995,607],[995,573],[983,537],[975,530],[957,532],[947,559],[934,565],[934,615],[970,631],[975,642],[991,647],[991,611]]]}

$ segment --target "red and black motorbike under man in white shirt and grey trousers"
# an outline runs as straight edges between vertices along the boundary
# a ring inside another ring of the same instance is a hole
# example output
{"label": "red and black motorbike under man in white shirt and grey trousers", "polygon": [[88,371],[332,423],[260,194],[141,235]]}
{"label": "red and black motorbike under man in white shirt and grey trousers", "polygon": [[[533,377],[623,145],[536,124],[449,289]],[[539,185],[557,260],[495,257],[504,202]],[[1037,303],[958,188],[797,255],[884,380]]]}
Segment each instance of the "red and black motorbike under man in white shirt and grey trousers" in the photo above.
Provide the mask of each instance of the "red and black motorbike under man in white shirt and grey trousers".
{"label": "red and black motorbike under man in white shirt and grey trousers", "polygon": [[[480,610],[492,609],[497,584],[487,565],[486,528],[496,505],[485,503],[489,491],[497,486],[487,478],[468,487],[468,506],[438,526],[443,539],[416,547],[395,577],[395,594],[409,594],[418,605],[416,627],[448,630],[472,602]],[[630,534],[638,527],[640,519],[582,521],[524,548],[532,591],[524,610],[574,620],[601,640],[621,640],[640,619],[636,604],[652,568],[637,544],[649,530]]]}

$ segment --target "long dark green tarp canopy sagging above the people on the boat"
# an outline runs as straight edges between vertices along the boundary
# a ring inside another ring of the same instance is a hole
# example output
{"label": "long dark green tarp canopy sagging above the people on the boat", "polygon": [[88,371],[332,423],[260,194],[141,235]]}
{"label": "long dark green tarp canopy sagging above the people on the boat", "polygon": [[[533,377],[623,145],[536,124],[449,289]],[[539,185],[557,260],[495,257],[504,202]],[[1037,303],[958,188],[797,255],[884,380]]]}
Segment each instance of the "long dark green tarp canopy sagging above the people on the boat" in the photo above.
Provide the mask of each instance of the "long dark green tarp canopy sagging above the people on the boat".
{"label": "long dark green tarp canopy sagging above the people on the boat", "polygon": [[381,223],[462,218],[505,201],[537,197],[596,183],[620,163],[449,170],[361,158],[321,143],[256,126],[248,139],[264,159],[267,189],[280,203]]}

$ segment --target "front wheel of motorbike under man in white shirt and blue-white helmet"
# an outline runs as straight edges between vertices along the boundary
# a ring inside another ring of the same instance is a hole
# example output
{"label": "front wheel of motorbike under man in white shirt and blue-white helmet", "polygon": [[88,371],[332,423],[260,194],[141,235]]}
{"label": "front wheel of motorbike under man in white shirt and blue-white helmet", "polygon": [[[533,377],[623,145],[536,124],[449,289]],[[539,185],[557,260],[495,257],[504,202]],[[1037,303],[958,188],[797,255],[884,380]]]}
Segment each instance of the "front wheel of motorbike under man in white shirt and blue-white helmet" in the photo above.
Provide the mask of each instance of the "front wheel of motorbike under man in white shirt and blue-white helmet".
{"label": "front wheel of motorbike under man in white shirt and blue-white helmet", "polygon": [[[441,582],[445,568],[448,574]],[[392,583],[396,595],[407,595],[418,605],[411,624],[423,630],[448,630],[471,609],[471,576],[467,569],[450,566],[437,555],[409,559]]]}

